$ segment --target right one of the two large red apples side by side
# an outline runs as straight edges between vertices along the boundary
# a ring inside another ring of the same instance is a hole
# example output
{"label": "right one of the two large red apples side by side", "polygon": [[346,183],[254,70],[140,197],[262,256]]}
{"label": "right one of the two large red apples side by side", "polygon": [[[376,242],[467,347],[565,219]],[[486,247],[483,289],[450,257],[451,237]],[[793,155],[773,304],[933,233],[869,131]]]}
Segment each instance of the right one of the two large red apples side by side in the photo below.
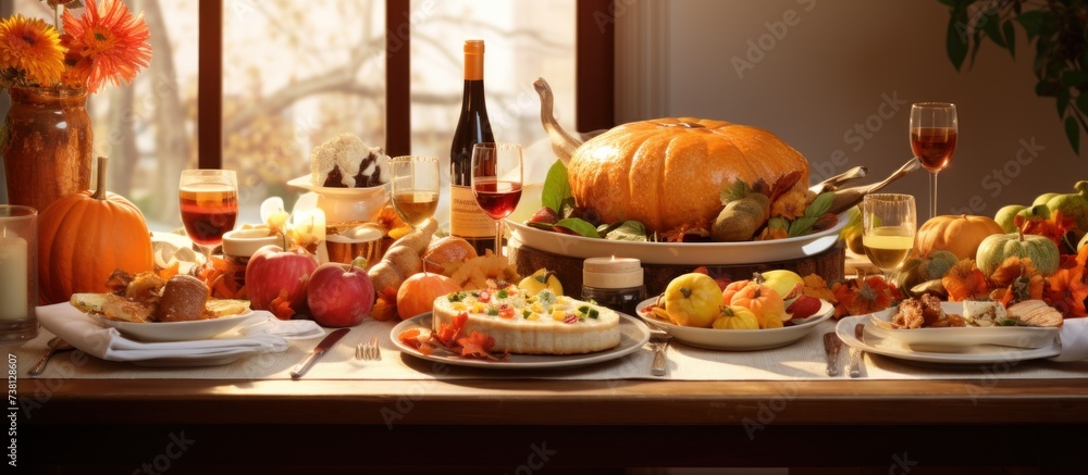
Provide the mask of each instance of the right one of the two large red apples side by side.
{"label": "right one of the two large red apples side by side", "polygon": [[364,268],[329,262],[310,275],[306,301],[321,326],[355,326],[374,308],[374,284]]}

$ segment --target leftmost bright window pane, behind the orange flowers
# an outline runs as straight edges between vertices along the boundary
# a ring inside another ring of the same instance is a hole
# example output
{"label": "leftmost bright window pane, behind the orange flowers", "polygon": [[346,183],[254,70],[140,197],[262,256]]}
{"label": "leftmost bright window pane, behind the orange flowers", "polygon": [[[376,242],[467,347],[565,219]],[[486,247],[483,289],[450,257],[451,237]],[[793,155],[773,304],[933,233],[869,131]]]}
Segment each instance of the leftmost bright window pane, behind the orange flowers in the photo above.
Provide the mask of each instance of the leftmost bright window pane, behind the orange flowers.
{"label": "leftmost bright window pane, behind the orange flowers", "polygon": [[[135,202],[153,230],[177,229],[177,177],[196,166],[197,0],[126,3],[151,29],[151,65],[132,85],[90,97],[94,153],[110,158],[109,189]],[[16,0],[15,12],[52,23],[39,0]]]}

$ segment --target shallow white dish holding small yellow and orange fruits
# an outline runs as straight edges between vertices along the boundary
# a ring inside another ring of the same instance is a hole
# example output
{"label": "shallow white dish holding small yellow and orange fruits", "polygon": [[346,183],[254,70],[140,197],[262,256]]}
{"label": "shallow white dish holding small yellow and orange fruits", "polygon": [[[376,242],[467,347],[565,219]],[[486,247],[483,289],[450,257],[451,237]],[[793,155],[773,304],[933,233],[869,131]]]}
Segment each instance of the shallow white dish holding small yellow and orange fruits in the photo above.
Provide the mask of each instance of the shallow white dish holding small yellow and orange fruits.
{"label": "shallow white dish holding small yellow and orange fruits", "polygon": [[687,345],[726,351],[755,351],[784,347],[804,338],[809,332],[816,329],[820,322],[830,318],[831,314],[834,313],[834,307],[831,305],[831,302],[820,299],[819,310],[799,325],[759,329],[696,328],[662,322],[643,312],[643,309],[655,303],[657,303],[656,297],[640,302],[636,307],[639,316]]}

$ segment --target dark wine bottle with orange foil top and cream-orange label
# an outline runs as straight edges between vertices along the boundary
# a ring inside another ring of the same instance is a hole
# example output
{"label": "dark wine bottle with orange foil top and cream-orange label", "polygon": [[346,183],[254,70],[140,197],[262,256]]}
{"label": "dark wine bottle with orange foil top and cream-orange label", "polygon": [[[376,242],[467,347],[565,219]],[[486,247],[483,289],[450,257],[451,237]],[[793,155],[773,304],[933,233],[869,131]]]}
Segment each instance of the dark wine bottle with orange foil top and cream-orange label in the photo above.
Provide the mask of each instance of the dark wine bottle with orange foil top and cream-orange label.
{"label": "dark wine bottle with orange foil top and cream-orange label", "polygon": [[465,92],[449,147],[449,234],[465,238],[483,255],[495,249],[495,221],[472,195],[472,146],[493,142],[483,92],[483,40],[465,41]]}

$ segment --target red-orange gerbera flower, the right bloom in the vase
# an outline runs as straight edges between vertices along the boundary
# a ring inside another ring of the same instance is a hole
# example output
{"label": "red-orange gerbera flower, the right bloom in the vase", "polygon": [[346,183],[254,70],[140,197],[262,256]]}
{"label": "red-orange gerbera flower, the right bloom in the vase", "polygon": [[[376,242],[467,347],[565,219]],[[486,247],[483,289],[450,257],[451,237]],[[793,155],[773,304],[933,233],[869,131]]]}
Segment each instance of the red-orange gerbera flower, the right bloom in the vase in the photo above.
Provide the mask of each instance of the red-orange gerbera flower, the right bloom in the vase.
{"label": "red-orange gerbera flower, the right bloom in the vase", "polygon": [[65,10],[64,32],[69,50],[90,60],[89,65],[76,61],[73,74],[85,75],[91,92],[106,82],[131,83],[151,62],[151,33],[144,14],[134,16],[120,0],[102,0],[101,7],[88,1],[78,17]]}

